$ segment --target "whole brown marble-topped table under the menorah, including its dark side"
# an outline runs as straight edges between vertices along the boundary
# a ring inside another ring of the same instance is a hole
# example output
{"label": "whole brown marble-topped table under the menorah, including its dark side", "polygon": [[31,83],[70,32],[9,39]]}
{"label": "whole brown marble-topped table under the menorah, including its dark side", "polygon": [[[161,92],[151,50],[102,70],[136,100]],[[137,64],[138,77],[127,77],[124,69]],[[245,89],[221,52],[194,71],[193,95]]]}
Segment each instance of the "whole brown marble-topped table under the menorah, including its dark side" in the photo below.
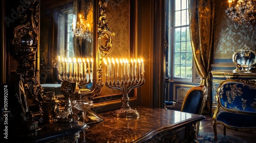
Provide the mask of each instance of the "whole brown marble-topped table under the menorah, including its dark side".
{"label": "whole brown marble-topped table under the menorah, including its dark side", "polygon": [[[104,121],[91,124],[86,142],[194,142],[197,122],[205,116],[162,108],[132,107],[138,118],[117,118],[114,111],[99,113]],[[83,133],[80,132],[81,141]]]}

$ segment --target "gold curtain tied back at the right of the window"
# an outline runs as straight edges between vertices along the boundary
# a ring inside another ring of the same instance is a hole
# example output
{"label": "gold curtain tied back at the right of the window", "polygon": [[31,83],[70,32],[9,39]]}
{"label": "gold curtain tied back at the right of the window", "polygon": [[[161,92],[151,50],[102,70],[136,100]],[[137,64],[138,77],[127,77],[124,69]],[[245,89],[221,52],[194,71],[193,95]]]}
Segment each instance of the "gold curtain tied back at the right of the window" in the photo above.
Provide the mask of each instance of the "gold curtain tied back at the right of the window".
{"label": "gold curtain tied back at the right of the window", "polygon": [[189,20],[193,59],[201,84],[208,88],[205,113],[211,110],[210,65],[213,58],[214,42],[214,1],[190,0]]}

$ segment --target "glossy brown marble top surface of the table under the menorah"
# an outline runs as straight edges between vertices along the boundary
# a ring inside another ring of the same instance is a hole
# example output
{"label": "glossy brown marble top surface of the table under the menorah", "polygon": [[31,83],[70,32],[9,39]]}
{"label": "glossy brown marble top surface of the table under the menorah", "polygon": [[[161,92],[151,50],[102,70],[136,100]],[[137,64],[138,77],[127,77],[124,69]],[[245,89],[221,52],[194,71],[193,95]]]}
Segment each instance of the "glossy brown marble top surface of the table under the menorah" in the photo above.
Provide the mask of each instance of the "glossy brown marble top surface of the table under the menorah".
{"label": "glossy brown marble top surface of the table under the menorah", "polygon": [[[205,117],[162,108],[132,107],[140,115],[138,118],[117,118],[114,111],[99,113],[104,121],[90,125],[86,129],[87,142],[136,142],[165,129],[196,123]],[[82,136],[80,134],[80,136]]]}

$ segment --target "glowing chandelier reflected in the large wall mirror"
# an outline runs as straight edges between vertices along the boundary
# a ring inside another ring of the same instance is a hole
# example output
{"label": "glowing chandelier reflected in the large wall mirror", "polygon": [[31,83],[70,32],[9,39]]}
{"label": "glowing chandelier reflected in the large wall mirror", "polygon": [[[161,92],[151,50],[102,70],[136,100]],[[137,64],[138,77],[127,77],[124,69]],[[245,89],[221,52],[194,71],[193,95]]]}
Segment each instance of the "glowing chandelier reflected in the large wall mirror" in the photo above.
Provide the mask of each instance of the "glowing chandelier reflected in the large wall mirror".
{"label": "glowing chandelier reflected in the large wall mirror", "polygon": [[86,20],[79,14],[79,19],[74,27],[72,24],[71,32],[73,35],[77,37],[83,37],[84,39],[90,40],[92,38],[92,27],[90,24],[90,20]]}

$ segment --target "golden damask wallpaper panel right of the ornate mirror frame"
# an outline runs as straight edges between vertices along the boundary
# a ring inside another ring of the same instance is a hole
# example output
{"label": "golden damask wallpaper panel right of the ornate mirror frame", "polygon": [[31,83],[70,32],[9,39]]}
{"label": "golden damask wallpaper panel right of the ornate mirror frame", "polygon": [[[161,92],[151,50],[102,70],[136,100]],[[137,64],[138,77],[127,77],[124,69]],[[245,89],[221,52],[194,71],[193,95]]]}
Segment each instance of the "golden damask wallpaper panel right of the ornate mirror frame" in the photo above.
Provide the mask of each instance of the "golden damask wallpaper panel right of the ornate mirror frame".
{"label": "golden damask wallpaper panel right of the ornate mirror frame", "polygon": [[[112,50],[105,58],[130,58],[130,0],[109,1],[105,12],[109,29],[115,33]],[[105,66],[102,66],[102,68],[102,70],[105,71]],[[104,75],[102,81],[105,82]],[[105,96],[120,93],[119,90],[103,86],[101,95]]]}

